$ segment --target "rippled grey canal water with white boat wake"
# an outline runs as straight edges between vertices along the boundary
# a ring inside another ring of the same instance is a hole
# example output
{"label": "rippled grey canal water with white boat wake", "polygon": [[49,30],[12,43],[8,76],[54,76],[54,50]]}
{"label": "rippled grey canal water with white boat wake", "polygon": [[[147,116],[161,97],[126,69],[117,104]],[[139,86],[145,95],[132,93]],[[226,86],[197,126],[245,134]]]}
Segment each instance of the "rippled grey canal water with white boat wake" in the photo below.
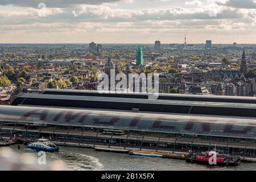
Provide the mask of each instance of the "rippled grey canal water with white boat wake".
{"label": "rippled grey canal water with white boat wake", "polygon": [[[26,146],[10,146],[15,155],[29,153],[39,158],[38,152]],[[49,163],[62,163],[67,170],[256,170],[256,163],[242,163],[236,167],[212,167],[186,163],[184,160],[163,159],[148,156],[99,152],[90,148],[60,147],[59,152],[46,153],[46,166]]]}

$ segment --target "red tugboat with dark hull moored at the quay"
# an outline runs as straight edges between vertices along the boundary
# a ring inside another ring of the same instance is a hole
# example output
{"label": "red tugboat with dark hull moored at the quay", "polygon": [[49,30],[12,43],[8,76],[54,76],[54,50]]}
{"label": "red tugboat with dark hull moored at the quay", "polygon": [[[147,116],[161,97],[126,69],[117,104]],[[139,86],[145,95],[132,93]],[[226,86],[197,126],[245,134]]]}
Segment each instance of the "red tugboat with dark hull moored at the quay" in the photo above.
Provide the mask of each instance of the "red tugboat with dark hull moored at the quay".
{"label": "red tugboat with dark hull moored at the quay", "polygon": [[239,156],[218,154],[216,151],[201,152],[200,154],[188,154],[186,162],[203,163],[217,166],[237,166],[241,163]]}

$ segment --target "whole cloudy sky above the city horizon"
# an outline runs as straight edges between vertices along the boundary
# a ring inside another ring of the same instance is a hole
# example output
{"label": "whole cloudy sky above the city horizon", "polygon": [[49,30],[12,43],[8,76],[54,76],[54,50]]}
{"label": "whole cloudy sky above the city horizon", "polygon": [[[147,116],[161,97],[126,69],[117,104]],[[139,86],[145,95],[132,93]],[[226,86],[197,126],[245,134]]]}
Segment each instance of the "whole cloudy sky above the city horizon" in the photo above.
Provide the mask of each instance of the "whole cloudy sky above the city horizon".
{"label": "whole cloudy sky above the city horizon", "polygon": [[0,43],[256,43],[256,0],[0,0]]}

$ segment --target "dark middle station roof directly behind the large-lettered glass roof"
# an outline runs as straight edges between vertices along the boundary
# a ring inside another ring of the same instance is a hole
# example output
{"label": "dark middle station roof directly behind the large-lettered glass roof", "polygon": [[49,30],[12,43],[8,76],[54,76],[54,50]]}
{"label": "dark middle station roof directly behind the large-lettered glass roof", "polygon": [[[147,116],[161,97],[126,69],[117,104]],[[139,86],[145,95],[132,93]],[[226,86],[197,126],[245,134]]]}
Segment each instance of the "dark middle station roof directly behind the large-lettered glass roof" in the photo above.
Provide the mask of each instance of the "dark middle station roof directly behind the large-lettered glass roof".
{"label": "dark middle station roof directly behind the large-lettered glass roof", "polygon": [[12,105],[80,107],[92,109],[132,110],[203,115],[255,117],[256,104],[231,102],[205,102],[183,100],[147,100],[143,98],[117,98],[25,93]]}

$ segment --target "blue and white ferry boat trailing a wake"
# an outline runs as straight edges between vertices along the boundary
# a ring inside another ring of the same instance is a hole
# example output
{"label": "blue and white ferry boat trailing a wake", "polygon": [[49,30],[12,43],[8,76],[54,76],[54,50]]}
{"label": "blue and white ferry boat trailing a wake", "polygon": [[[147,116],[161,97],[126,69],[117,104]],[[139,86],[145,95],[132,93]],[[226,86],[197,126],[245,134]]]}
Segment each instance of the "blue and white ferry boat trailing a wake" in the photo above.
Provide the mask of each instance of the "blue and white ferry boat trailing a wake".
{"label": "blue and white ferry boat trailing a wake", "polygon": [[28,148],[32,148],[34,150],[41,150],[46,152],[55,152],[59,150],[59,147],[56,146],[56,144],[50,142],[48,139],[38,139],[34,143],[28,143]]}

